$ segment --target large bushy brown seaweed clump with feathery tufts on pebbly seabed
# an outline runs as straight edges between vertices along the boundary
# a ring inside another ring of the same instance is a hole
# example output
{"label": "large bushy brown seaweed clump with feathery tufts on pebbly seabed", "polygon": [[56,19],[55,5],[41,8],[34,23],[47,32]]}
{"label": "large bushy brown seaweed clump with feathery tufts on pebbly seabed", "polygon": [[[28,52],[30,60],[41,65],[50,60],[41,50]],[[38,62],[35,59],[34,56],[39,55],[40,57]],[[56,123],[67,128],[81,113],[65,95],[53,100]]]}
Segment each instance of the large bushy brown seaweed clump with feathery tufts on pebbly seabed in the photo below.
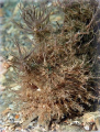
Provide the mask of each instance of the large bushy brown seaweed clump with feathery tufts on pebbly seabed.
{"label": "large bushy brown seaweed clump with feathery tufts on pebbly seabed", "polygon": [[25,117],[35,113],[38,123],[47,127],[54,120],[81,114],[96,98],[91,78],[98,3],[59,3],[56,9],[65,16],[63,25],[56,22],[56,29],[49,22],[56,12],[43,4],[21,9],[24,24],[14,22],[34,36],[30,53],[14,41],[19,56],[12,64],[21,85],[19,100],[25,102]]}

